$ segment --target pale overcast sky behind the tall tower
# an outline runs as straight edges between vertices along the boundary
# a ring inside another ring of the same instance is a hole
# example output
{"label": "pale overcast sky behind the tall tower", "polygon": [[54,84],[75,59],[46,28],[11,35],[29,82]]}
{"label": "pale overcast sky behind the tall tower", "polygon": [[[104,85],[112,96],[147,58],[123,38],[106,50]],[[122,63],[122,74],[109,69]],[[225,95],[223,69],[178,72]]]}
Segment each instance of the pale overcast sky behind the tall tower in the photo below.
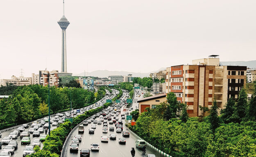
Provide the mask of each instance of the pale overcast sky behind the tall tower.
{"label": "pale overcast sky behind the tall tower", "polygon": [[[65,0],[67,69],[256,60],[256,0]],[[62,0],[1,0],[0,78],[61,70]]]}

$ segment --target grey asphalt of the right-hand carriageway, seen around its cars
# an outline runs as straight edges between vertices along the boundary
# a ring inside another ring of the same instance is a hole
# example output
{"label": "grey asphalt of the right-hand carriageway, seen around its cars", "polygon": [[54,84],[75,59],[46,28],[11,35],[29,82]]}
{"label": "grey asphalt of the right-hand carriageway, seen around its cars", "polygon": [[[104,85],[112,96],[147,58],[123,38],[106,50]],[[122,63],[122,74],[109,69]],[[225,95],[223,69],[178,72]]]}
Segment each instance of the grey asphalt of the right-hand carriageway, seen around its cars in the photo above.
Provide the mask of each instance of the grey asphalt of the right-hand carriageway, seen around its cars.
{"label": "grey asphalt of the right-hand carriageway, seen around its cars", "polygon": [[[123,95],[122,95],[121,99],[125,95],[128,96],[129,93],[128,92],[123,92]],[[143,98],[143,94],[141,94],[140,97],[136,96],[136,94],[135,94],[134,98],[139,100],[139,99]],[[136,106],[138,108],[138,103],[133,103],[133,105],[131,107],[133,107],[133,110],[135,110]],[[126,111],[128,110],[128,112],[131,112],[131,111],[129,111],[129,108],[125,108],[125,105],[123,105],[122,108],[121,108],[121,114],[125,114],[125,111],[123,111],[124,109],[126,109]],[[118,117],[119,119],[121,119],[121,114],[119,114],[118,116],[116,116],[116,115],[115,116]],[[113,116],[111,116],[111,118],[113,119]],[[97,117],[96,120],[99,121],[100,118]],[[125,119],[122,119],[122,122],[123,122],[123,128],[125,130]],[[134,135],[130,134],[130,137],[125,137],[126,138],[126,144],[119,144],[118,143],[118,138],[122,137],[122,133],[116,133],[115,124],[109,124],[109,121],[107,121],[107,123],[108,123],[108,133],[102,133],[103,123],[102,124],[96,124],[96,129],[95,129],[94,134],[89,134],[88,133],[88,129],[91,128],[91,124],[93,124],[93,123],[88,124],[88,126],[84,126],[84,133],[78,133],[78,128],[77,128],[71,134],[71,137],[74,137],[75,135],[82,135],[82,142],[79,142],[79,146],[78,146],[79,150],[81,150],[82,148],[89,148],[90,149],[92,143],[99,143],[100,144],[100,150],[99,151],[91,151],[90,157],[131,157],[130,150],[131,150],[132,147],[135,148],[135,150],[136,150],[135,157],[144,157],[145,156],[145,155],[142,154],[141,150],[136,148],[135,142],[136,142],[137,138]],[[109,131],[110,126],[113,126],[115,128],[114,131]],[[102,135],[106,135],[106,136],[109,137],[110,134],[116,134],[117,135],[116,140],[109,140],[108,143],[101,142],[101,136]],[[74,153],[74,152],[70,153],[69,149],[70,149],[71,140],[72,140],[72,138],[68,141],[68,144],[66,145],[66,148],[63,149],[64,156],[65,157],[78,157],[80,151],[78,151],[78,153]],[[156,157],[162,157],[161,154],[152,150],[150,147],[146,148],[146,154],[147,153],[155,154]]]}

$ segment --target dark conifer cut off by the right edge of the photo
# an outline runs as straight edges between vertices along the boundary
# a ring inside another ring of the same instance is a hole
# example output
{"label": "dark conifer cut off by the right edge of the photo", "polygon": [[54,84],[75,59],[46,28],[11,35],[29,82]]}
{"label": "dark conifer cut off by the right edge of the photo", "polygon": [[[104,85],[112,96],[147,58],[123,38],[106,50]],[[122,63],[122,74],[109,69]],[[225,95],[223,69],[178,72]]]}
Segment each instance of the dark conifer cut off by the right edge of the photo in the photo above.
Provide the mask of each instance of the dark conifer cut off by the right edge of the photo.
{"label": "dark conifer cut off by the right edge of the photo", "polygon": [[251,95],[251,100],[246,110],[246,119],[256,121],[256,82],[254,83],[254,94]]}

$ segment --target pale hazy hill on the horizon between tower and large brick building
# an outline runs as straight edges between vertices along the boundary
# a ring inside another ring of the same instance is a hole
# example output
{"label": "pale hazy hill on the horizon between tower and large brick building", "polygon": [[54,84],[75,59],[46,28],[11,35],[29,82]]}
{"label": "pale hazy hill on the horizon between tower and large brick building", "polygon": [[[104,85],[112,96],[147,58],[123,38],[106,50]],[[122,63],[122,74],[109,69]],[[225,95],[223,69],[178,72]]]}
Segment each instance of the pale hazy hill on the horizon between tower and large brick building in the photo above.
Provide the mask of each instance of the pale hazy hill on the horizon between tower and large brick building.
{"label": "pale hazy hill on the horizon between tower and large brick building", "polygon": [[[161,68],[160,70],[164,70],[165,68]],[[134,72],[128,72],[128,71],[108,71],[108,70],[97,70],[92,71],[91,73],[86,72],[86,76],[97,76],[97,77],[108,77],[109,75],[128,75],[132,74],[132,77],[150,77],[150,73],[155,73],[158,71],[151,71],[149,73],[134,73]],[[75,76],[84,76],[83,73],[74,74]]]}

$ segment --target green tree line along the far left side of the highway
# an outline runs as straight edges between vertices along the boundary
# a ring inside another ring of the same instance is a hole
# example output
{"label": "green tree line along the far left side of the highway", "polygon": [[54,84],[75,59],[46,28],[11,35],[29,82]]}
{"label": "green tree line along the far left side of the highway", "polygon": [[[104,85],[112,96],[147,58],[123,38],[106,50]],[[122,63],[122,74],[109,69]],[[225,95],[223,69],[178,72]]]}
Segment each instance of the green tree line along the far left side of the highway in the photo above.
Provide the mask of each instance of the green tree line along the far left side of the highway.
{"label": "green tree line along the far left side of the highway", "polygon": [[[105,91],[99,90],[102,95]],[[82,108],[103,97],[82,88],[50,87],[50,112]],[[96,99],[95,99],[96,98]],[[21,124],[48,114],[48,87],[38,84],[17,86],[13,94],[0,101],[0,124]]]}

